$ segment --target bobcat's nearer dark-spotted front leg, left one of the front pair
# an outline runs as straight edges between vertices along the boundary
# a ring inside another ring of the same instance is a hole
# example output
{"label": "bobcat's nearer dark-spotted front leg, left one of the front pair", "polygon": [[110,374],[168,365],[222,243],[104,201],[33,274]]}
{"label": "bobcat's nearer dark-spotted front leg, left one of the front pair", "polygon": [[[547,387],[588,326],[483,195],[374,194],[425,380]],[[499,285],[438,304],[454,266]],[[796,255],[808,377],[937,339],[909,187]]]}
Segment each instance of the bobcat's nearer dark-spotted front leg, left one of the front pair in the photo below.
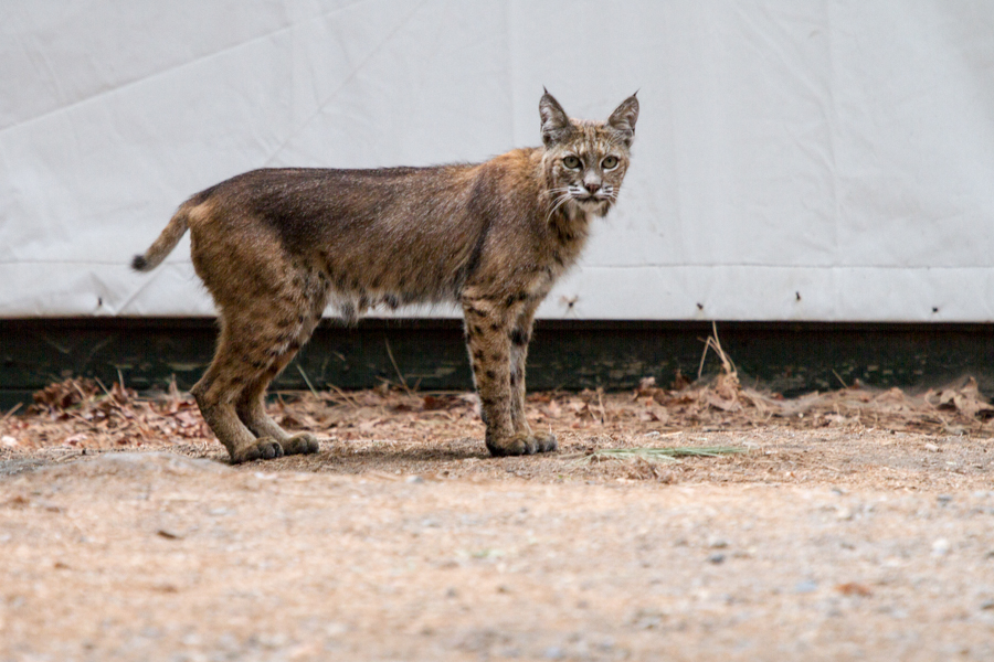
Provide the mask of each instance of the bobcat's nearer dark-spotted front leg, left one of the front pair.
{"label": "bobcat's nearer dark-spotted front leg, left one of the front pair", "polygon": [[463,298],[466,344],[487,427],[487,450],[495,456],[530,455],[544,450],[536,445],[530,433],[515,429],[510,330],[522,305],[515,297],[509,299]]}

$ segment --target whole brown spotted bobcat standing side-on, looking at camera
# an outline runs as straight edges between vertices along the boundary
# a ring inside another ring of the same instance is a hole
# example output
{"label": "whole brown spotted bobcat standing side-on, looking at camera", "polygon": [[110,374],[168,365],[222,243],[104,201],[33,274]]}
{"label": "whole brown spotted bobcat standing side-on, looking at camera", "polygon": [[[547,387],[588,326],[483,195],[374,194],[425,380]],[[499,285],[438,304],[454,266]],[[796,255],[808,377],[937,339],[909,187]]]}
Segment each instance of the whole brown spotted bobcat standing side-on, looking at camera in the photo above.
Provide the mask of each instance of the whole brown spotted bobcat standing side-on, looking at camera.
{"label": "whole brown spotted bobcat standing side-on, looking at camera", "polygon": [[180,205],[138,271],[187,229],[220,316],[192,393],[233,463],[317,452],[269,418],[264,394],[329,302],[347,323],[371,306],[455,301],[495,456],[546,452],[525,419],[536,308],[580,255],[592,217],[617,201],[638,119],[635,95],[606,121],[570,119],[548,92],[540,148],[477,164],[373,170],[263,169]]}

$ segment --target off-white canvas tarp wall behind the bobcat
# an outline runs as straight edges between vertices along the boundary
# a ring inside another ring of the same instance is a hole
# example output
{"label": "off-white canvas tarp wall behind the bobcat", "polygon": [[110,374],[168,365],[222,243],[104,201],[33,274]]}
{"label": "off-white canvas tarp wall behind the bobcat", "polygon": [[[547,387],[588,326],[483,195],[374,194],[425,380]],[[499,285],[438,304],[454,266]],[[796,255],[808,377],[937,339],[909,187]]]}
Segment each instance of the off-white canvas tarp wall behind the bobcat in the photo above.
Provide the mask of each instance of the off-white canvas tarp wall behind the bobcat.
{"label": "off-white canvas tarp wall behind the bobcat", "polygon": [[213,314],[189,239],[128,269],[188,195],[537,145],[543,85],[642,116],[542,317],[994,319],[987,0],[0,0],[0,317]]}

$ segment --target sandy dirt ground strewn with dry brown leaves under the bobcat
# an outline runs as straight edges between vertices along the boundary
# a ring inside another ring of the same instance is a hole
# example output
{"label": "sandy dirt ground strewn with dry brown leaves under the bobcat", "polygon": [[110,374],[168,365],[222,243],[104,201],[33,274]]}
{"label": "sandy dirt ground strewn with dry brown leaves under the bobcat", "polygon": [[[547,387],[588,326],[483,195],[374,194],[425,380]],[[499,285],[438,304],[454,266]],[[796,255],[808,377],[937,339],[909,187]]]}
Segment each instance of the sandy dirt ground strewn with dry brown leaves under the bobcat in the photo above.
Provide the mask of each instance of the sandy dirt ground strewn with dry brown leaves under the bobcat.
{"label": "sandy dirt ground strewn with dry brown leaves under the bobcat", "polygon": [[230,467],[175,389],[3,416],[0,661],[994,660],[970,381],[536,394],[560,450],[503,459],[470,394],[272,412],[321,451]]}

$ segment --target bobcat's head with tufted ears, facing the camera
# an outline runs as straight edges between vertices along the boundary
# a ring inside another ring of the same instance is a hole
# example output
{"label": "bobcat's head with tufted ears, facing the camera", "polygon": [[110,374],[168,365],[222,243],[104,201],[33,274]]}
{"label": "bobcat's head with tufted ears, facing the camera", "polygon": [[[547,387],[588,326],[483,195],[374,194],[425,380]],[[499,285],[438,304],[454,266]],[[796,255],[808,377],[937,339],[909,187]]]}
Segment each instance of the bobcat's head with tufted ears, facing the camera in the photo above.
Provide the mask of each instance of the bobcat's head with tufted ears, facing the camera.
{"label": "bobcat's head with tufted ears, facing the camera", "polygon": [[633,94],[607,121],[570,119],[546,92],[539,102],[542,118],[543,166],[553,210],[603,216],[617,202],[635,137],[638,99]]}

